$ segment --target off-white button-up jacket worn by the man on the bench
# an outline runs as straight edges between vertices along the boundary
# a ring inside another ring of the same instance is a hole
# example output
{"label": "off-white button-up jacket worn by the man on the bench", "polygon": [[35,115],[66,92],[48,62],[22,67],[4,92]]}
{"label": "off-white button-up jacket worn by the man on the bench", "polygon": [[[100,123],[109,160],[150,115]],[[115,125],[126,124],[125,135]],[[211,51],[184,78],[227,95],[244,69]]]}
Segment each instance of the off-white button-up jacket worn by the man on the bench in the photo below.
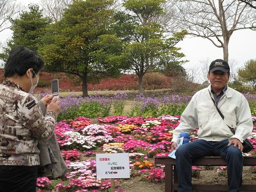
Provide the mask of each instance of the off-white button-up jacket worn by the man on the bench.
{"label": "off-white button-up jacket worn by the man on the bench", "polygon": [[[181,123],[173,132],[172,142],[177,142],[181,132],[191,132],[199,127],[198,138],[206,141],[223,141],[225,139],[237,138],[241,142],[250,136],[253,131],[253,120],[247,99],[243,94],[228,87],[218,102],[218,108],[224,115],[222,120],[220,114],[209,94],[211,86],[198,91],[181,115]],[[235,129],[232,134],[229,127]]]}

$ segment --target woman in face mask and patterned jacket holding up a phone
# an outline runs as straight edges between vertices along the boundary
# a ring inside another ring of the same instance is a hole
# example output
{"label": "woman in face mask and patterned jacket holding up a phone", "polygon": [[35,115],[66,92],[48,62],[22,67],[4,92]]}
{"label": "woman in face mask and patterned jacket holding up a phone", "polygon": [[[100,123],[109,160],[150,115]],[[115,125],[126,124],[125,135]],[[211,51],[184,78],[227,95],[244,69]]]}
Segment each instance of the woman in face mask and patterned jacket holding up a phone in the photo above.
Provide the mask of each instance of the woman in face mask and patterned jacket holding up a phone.
{"label": "woman in face mask and patterned jacket holding up a phone", "polygon": [[60,102],[47,95],[45,117],[31,95],[44,62],[25,47],[14,47],[0,84],[0,191],[35,191],[38,141],[52,136]]}

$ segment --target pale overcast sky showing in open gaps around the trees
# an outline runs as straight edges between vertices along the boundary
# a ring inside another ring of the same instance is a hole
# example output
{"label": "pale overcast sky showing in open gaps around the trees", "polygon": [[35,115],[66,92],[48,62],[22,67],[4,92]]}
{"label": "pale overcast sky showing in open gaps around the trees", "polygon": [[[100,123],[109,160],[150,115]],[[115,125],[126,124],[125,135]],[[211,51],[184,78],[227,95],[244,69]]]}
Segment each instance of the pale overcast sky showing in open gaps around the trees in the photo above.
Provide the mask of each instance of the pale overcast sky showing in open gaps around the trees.
{"label": "pale overcast sky showing in open gaps around the trees", "polygon": [[[19,0],[19,2],[28,6],[28,3],[36,3],[39,0]],[[12,32],[9,29],[0,32],[0,43],[4,44],[11,36]],[[186,55],[186,60],[189,60],[188,63],[183,65],[185,69],[199,69],[200,63],[202,63],[200,61],[213,61],[217,58],[223,58],[222,48],[215,47],[207,39],[185,38],[177,46],[181,47],[181,52]],[[242,67],[244,62],[250,59],[256,59],[256,31],[250,29],[235,31],[229,42],[229,61],[235,62],[233,68],[236,69]]]}

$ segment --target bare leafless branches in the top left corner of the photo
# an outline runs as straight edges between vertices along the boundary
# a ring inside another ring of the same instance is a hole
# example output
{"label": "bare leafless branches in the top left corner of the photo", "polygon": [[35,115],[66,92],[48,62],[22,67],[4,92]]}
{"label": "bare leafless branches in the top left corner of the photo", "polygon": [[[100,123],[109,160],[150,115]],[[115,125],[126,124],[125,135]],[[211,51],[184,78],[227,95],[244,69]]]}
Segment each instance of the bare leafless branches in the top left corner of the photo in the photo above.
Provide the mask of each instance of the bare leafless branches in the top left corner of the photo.
{"label": "bare leafless branches in the top left corner of the photo", "polygon": [[0,32],[10,28],[10,19],[19,12],[19,5],[14,0],[0,0]]}

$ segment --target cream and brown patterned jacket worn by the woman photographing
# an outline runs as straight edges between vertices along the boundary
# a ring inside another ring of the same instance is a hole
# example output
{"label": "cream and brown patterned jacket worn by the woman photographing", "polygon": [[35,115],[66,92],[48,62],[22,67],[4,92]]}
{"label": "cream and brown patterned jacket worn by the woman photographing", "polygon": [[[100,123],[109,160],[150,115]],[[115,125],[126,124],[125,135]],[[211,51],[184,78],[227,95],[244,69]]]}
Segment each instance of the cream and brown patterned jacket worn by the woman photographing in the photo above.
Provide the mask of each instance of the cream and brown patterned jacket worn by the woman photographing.
{"label": "cream and brown patterned jacket worn by the woman photographing", "polygon": [[38,140],[52,136],[56,113],[46,112],[19,85],[0,84],[0,165],[39,165]]}

